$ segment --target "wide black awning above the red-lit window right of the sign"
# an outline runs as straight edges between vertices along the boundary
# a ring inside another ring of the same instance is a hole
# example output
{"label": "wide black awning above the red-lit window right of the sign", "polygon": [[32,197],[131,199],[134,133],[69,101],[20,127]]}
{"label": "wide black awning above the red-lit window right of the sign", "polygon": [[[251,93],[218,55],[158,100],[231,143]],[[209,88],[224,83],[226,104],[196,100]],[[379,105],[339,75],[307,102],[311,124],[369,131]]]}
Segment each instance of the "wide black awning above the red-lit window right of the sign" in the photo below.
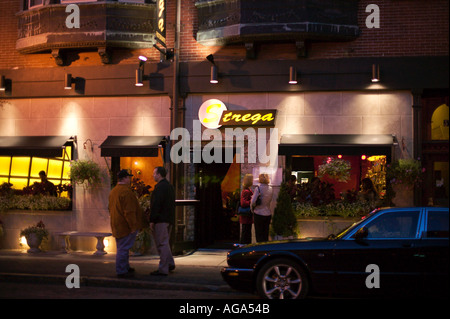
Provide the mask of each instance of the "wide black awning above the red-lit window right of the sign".
{"label": "wide black awning above the red-lit window right of the sign", "polygon": [[281,136],[279,155],[387,155],[391,156],[395,136],[367,135],[308,135]]}

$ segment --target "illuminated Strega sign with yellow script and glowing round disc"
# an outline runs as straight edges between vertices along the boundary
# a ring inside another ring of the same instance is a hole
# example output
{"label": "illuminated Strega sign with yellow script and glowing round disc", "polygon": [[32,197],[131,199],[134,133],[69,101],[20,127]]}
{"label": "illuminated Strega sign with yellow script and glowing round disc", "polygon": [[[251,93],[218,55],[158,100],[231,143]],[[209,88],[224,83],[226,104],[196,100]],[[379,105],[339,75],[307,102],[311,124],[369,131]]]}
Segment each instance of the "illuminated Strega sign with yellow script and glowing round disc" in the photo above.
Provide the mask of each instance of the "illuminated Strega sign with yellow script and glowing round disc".
{"label": "illuminated Strega sign with yellow script and glowing round disc", "polygon": [[198,111],[203,126],[215,129],[223,126],[274,126],[277,110],[230,111],[216,99],[205,101]]}

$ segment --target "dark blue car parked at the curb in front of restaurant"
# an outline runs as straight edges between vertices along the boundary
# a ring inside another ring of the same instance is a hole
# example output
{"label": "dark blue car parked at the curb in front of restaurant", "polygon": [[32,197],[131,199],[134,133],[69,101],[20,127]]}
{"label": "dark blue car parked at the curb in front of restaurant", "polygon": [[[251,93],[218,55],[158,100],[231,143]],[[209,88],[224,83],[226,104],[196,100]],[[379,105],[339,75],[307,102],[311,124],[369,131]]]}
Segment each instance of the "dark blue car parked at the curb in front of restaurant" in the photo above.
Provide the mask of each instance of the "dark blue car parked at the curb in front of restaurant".
{"label": "dark blue car parked at the curb in front of restaurant", "polygon": [[224,280],[263,298],[448,296],[449,209],[376,210],[337,235],[248,245]]}

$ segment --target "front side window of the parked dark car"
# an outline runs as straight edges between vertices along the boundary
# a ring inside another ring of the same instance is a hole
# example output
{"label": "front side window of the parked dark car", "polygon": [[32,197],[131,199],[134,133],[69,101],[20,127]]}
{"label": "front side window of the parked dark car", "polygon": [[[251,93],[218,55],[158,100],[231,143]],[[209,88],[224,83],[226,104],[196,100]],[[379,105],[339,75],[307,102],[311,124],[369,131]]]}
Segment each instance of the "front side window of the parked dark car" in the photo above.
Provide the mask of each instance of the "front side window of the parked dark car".
{"label": "front side window of the parked dark car", "polygon": [[418,211],[384,213],[366,225],[367,238],[415,238],[418,220]]}

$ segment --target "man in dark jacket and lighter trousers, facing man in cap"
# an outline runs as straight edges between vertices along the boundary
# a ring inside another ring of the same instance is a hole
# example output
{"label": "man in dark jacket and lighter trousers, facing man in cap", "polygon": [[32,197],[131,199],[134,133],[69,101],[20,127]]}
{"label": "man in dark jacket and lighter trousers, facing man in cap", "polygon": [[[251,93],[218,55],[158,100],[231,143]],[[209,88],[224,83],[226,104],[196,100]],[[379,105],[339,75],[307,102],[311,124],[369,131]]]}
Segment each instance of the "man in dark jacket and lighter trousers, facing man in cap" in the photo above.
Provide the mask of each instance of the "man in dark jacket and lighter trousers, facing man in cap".
{"label": "man in dark jacket and lighter trousers, facing man in cap", "polygon": [[150,229],[160,257],[158,270],[151,273],[154,276],[167,276],[175,269],[169,244],[170,231],[175,223],[175,190],[167,181],[166,174],[166,169],[161,166],[153,170],[157,184],[150,201]]}

